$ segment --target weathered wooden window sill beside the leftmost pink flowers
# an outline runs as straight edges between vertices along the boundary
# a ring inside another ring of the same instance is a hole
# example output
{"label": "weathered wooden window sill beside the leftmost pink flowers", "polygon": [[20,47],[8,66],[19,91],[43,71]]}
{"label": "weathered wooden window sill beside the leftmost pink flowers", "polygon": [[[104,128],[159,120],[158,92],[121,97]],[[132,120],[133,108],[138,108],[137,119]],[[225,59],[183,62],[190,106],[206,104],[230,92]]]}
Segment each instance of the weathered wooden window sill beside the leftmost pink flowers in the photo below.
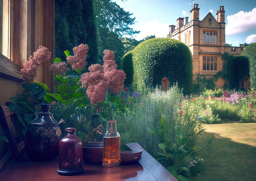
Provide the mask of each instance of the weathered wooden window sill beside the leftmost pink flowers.
{"label": "weathered wooden window sill beside the leftmost pink flowers", "polygon": [[21,76],[20,66],[16,65],[10,59],[6,58],[0,53],[0,77],[4,79],[13,80],[16,82],[23,82]]}

